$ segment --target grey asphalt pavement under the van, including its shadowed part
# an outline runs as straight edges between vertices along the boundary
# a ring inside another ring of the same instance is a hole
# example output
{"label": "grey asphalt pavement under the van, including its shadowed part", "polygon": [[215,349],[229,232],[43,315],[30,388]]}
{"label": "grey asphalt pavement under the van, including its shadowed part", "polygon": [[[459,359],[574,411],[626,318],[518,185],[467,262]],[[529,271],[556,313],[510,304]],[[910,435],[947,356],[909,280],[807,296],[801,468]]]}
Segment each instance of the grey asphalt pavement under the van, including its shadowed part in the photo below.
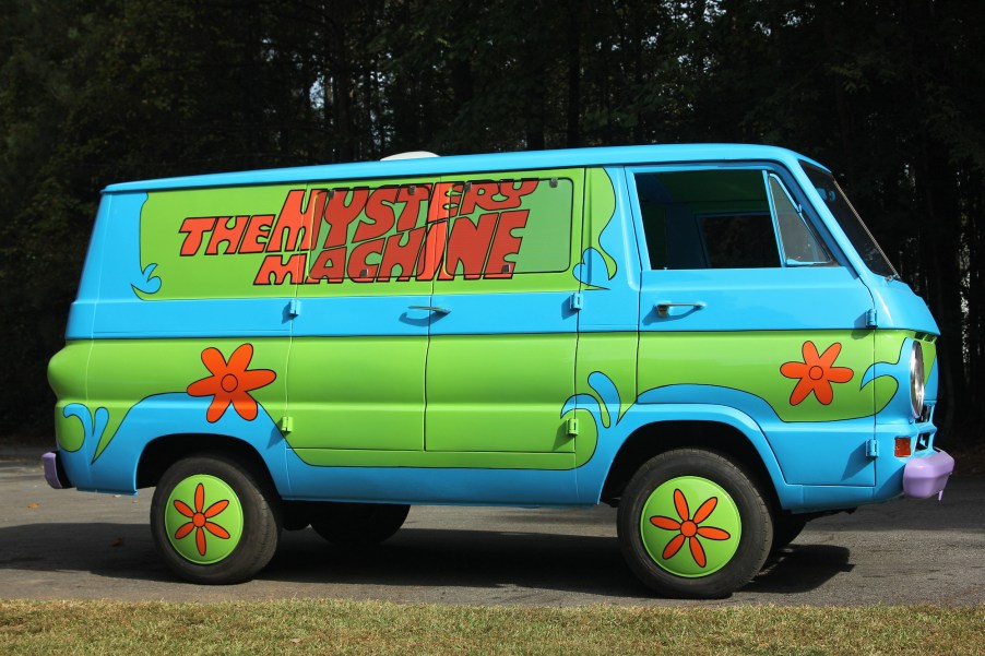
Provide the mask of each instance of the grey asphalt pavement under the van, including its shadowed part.
{"label": "grey asphalt pavement under the van, including its shadowed part", "polygon": [[415,506],[360,553],[310,528],[284,533],[249,582],[176,581],[154,551],[150,490],[52,490],[40,451],[0,452],[0,598],[211,601],[857,606],[985,604],[985,477],[954,476],[941,501],[901,500],[808,524],[745,588],[716,601],[654,597],[630,573],[616,511]]}

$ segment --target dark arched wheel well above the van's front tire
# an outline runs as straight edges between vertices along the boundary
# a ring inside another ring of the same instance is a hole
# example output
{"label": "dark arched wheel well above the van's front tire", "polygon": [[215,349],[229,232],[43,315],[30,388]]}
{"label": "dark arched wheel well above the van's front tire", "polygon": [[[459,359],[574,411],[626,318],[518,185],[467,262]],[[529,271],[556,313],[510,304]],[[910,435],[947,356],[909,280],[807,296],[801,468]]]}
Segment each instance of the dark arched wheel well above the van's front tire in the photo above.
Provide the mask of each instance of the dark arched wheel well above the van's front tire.
{"label": "dark arched wheel well above the van's front tire", "polygon": [[618,505],[626,484],[643,463],[685,446],[708,449],[728,457],[753,477],[768,502],[779,508],[776,490],[756,448],[740,430],[717,421],[657,421],[637,429],[613,461],[602,488],[602,500]]}

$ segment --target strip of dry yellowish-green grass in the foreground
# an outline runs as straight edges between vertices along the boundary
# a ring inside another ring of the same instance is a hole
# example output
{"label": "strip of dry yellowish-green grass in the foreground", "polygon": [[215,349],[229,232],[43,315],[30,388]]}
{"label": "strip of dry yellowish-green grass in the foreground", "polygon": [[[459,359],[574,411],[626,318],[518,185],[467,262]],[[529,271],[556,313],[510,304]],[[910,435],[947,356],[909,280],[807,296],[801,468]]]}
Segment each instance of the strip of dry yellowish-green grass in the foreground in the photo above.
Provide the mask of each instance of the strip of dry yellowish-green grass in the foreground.
{"label": "strip of dry yellowish-green grass in the foreground", "polygon": [[0,601],[0,654],[983,654],[985,607]]}

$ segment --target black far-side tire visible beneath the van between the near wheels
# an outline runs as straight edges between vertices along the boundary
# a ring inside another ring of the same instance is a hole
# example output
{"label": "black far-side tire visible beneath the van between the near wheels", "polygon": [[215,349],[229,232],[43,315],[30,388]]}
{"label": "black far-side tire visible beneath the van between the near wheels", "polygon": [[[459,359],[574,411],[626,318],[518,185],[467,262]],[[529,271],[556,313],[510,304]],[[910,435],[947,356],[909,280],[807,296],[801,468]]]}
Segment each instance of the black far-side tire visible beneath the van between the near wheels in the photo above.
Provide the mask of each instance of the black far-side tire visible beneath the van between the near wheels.
{"label": "black far-side tire visible beneath the van between the near wheels", "polygon": [[390,503],[320,503],[311,527],[344,549],[371,547],[400,530],[410,505]]}

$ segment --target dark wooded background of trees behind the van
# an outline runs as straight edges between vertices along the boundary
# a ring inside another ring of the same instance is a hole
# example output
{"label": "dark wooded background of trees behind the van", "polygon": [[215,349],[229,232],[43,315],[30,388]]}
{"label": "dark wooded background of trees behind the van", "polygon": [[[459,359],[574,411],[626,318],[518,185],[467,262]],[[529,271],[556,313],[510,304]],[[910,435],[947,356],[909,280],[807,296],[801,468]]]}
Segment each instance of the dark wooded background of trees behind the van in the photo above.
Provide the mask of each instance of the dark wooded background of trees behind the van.
{"label": "dark wooded background of trees behind the van", "polygon": [[686,141],[843,183],[930,305],[944,437],[983,427],[981,0],[0,0],[0,434],[50,431],[110,182]]}

